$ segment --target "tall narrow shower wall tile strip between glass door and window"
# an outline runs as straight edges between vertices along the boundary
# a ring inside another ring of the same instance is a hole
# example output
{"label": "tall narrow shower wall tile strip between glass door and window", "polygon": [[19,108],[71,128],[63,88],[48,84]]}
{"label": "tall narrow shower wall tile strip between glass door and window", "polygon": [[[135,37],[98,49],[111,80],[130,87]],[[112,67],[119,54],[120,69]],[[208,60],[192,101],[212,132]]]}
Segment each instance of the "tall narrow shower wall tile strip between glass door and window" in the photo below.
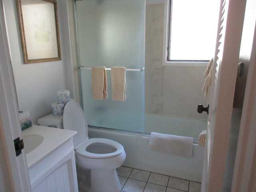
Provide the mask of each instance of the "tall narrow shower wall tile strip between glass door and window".
{"label": "tall narrow shower wall tile strip between glass door and window", "polygon": [[163,114],[162,66],[164,4],[146,5],[145,112]]}

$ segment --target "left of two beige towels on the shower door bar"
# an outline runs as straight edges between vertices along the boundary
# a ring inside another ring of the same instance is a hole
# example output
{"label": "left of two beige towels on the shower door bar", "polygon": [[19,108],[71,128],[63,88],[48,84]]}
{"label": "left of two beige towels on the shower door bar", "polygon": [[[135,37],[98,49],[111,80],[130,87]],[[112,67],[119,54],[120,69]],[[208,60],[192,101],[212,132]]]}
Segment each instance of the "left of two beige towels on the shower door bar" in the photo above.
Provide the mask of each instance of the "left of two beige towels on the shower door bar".
{"label": "left of two beige towels on the shower door bar", "polygon": [[103,100],[108,98],[108,85],[105,66],[92,67],[92,98]]}

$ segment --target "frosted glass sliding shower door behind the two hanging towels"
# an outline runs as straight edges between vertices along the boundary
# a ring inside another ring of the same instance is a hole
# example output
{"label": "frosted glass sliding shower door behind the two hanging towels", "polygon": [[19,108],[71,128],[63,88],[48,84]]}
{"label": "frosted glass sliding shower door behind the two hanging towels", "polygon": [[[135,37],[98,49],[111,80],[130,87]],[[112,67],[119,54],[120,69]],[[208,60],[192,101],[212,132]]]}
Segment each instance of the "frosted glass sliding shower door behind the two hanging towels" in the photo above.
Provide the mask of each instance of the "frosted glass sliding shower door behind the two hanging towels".
{"label": "frosted glass sliding shower door behind the two hanging towels", "polygon": [[[144,67],[145,1],[81,0],[76,2],[80,66]],[[83,110],[88,125],[144,132],[144,71],[126,70],[126,101],[92,98],[91,70],[81,69]]]}

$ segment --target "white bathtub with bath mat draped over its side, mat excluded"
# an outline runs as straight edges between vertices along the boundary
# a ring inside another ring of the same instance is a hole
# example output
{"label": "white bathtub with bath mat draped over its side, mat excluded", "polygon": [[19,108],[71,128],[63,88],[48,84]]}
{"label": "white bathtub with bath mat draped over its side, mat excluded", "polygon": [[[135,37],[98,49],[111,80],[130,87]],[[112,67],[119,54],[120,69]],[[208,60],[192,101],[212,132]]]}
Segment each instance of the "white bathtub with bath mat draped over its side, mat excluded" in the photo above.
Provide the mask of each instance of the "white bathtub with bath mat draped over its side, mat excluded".
{"label": "white bathtub with bath mat draped over its side, mat excluded", "polygon": [[[160,124],[158,123],[158,121],[163,124],[161,118],[157,120],[153,119],[150,116],[145,116],[145,119],[147,118],[150,118],[152,120],[152,126],[159,126]],[[189,125],[189,129],[192,129],[191,121],[191,119],[187,119],[185,120],[185,122],[182,122],[182,119],[178,118],[174,122],[167,122],[166,128],[167,125],[168,129],[170,129],[170,125],[174,125],[174,127],[177,126],[178,129],[185,131],[185,124]],[[201,123],[202,125],[204,125],[203,122],[204,121],[196,120],[193,126],[198,127],[198,124],[200,125]],[[179,126],[178,124],[181,125]],[[204,129],[204,127],[202,127],[201,129],[198,128],[197,132],[190,136],[193,136],[195,139],[197,139],[198,134],[202,129]],[[156,132],[156,130],[154,131]],[[193,131],[191,131],[191,133],[192,132]],[[168,134],[183,135],[184,133],[179,134],[178,131],[175,130],[172,133]],[[108,138],[122,144],[126,152],[126,160],[123,166],[137,168],[140,170],[146,170],[186,180],[192,180],[195,182],[201,182],[202,180],[204,147],[198,144],[193,144],[192,158],[185,158],[181,156],[175,156],[149,150],[149,134],[133,133],[120,130],[108,130],[89,126],[88,136],[89,138]],[[188,135],[186,134],[185,136]]]}

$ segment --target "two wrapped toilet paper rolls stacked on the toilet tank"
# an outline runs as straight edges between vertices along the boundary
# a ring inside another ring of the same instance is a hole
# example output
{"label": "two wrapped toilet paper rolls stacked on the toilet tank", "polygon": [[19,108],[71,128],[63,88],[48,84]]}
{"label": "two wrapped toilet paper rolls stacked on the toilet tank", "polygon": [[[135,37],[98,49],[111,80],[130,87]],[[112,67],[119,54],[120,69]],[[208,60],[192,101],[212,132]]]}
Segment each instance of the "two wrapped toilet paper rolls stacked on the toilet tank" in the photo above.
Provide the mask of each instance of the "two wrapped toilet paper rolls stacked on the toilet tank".
{"label": "two wrapped toilet paper rolls stacked on the toilet tank", "polygon": [[54,116],[63,115],[64,107],[70,101],[69,90],[61,90],[57,92],[57,102],[52,103],[52,114]]}

